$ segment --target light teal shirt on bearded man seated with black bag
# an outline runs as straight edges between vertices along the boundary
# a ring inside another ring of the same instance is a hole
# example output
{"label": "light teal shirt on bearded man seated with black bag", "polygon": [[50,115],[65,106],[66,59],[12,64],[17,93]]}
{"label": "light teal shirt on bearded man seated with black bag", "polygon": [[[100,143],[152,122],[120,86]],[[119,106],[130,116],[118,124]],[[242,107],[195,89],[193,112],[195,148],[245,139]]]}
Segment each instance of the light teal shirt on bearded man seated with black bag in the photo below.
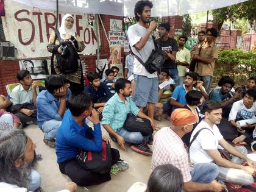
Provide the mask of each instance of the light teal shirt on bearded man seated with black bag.
{"label": "light teal shirt on bearded man seated with black bag", "polygon": [[137,116],[140,109],[135,105],[130,97],[126,101],[122,101],[118,94],[115,93],[104,107],[102,113],[102,125],[110,125],[113,130],[118,130],[124,126],[124,121],[128,113]]}

